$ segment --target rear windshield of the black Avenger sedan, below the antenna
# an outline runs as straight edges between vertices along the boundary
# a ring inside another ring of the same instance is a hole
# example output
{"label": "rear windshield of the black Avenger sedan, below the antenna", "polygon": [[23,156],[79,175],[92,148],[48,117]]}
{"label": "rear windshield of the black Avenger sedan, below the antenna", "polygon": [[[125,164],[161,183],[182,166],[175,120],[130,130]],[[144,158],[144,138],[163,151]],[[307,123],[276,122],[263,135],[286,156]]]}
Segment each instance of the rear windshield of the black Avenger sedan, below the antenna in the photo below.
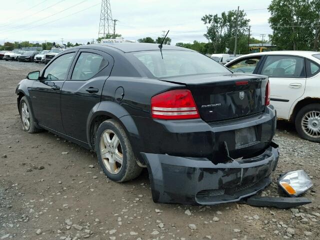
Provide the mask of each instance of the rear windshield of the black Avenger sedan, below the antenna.
{"label": "rear windshield of the black Avenger sedan, below the antenna", "polygon": [[230,73],[215,60],[195,51],[160,50],[139,51],[133,55],[155,77],[183,76],[203,73]]}

